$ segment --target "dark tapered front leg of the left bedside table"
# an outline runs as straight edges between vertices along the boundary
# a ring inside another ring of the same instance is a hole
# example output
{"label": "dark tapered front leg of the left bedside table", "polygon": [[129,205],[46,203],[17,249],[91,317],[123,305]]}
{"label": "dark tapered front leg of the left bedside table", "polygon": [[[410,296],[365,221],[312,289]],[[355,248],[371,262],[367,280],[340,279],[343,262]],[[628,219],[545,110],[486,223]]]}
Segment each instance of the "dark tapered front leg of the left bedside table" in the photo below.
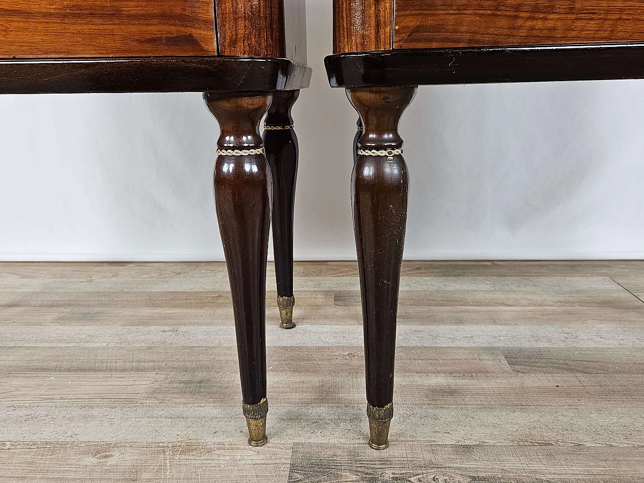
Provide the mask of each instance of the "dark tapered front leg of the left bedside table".
{"label": "dark tapered front leg of the left bedside table", "polygon": [[259,124],[269,93],[205,93],[222,134],[214,169],[214,200],[231,282],[232,310],[249,444],[266,438],[266,261],[270,169]]}

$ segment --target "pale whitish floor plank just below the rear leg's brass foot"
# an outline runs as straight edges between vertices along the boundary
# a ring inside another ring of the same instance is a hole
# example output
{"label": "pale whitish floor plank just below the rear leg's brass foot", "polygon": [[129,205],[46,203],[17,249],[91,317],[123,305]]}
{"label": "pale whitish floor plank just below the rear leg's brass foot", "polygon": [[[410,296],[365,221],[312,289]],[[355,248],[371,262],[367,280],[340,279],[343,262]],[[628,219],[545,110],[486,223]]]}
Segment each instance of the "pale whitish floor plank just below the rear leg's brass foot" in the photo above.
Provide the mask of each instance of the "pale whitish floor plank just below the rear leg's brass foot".
{"label": "pale whitish floor plank just below the rear leg's brass foot", "polygon": [[[363,330],[357,325],[312,325],[298,330],[266,328],[267,346],[359,346]],[[644,326],[575,325],[402,325],[398,346],[454,347],[644,347]],[[0,347],[147,347],[234,346],[234,327],[111,327],[84,325],[5,324]]]}

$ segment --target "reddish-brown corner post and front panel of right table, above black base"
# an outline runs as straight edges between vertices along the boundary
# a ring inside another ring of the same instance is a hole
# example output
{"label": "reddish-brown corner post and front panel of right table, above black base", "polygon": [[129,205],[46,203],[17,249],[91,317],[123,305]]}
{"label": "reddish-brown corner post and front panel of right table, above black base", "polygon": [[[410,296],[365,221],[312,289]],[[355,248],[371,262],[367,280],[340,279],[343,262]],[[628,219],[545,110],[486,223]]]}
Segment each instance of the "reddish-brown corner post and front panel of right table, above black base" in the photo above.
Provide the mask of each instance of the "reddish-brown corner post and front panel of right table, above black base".
{"label": "reddish-brown corner post and front panel of right table, above black base", "polygon": [[643,41],[639,0],[334,0],[334,53]]}

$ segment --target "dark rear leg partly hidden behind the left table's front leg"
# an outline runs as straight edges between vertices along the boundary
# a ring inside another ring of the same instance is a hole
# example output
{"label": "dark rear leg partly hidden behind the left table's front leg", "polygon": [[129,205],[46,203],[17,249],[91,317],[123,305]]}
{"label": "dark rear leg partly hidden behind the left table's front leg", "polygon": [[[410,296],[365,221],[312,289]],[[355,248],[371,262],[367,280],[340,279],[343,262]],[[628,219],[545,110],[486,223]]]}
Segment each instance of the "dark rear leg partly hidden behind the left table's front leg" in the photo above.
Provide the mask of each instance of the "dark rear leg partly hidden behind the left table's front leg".
{"label": "dark rear leg partly hidden behind the left table's front leg", "polygon": [[274,91],[264,126],[264,146],[273,179],[273,252],[282,328],[293,328],[293,210],[298,176],[298,138],[290,111],[299,90]]}

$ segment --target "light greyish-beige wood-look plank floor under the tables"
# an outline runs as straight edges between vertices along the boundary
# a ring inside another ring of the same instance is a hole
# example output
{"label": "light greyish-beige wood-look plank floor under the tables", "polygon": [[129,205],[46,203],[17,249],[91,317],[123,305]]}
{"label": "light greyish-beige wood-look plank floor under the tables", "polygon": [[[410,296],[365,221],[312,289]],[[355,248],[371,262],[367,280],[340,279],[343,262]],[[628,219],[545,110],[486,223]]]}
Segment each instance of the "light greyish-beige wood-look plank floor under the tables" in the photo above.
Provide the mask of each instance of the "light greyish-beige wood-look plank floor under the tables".
{"label": "light greyish-beige wood-look plank floor under the tables", "polygon": [[222,263],[0,263],[0,482],[644,481],[643,261],[405,263],[380,452],[355,263],[295,287],[251,448]]}

